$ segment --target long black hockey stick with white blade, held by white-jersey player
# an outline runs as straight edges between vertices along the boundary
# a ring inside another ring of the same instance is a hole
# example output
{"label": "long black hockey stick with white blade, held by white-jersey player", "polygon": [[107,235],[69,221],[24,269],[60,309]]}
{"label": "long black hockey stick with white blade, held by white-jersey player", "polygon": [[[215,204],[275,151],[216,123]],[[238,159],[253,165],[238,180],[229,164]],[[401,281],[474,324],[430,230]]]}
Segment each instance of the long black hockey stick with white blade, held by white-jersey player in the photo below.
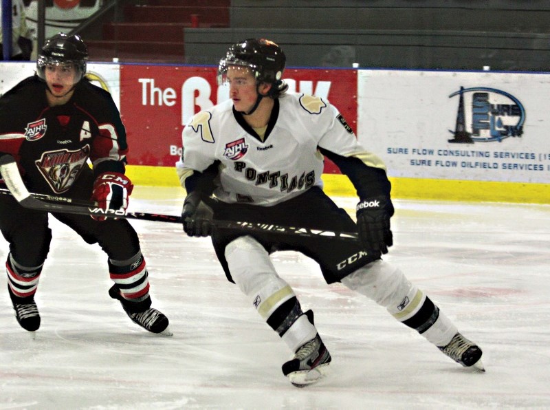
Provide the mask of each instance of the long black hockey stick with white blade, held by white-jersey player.
{"label": "long black hockey stick with white blade, held by white-jersey player", "polygon": [[[174,222],[181,224],[181,216],[162,215],[156,213],[126,212],[123,210],[99,208],[95,202],[83,199],[57,197],[54,195],[30,193],[21,179],[17,164],[11,155],[0,157],[0,173],[8,189],[0,188],[0,193],[12,195],[23,208],[53,213],[72,213],[109,218],[140,219],[155,222]],[[358,235],[353,232],[334,232],[331,230],[297,228],[275,224],[260,224],[256,222],[212,221],[217,228],[248,230],[256,233],[276,233],[283,235],[299,235],[302,237],[337,237],[349,241],[357,241]]]}

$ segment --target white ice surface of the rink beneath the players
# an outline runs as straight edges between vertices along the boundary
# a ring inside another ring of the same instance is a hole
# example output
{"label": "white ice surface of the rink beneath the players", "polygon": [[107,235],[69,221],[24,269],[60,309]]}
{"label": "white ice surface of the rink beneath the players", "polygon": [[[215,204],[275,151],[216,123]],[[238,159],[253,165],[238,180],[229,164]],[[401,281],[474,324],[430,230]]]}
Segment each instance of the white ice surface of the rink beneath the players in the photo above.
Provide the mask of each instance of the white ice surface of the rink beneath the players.
{"label": "white ice surface of the rink beneath the players", "polygon": [[[131,211],[179,215],[177,188],[137,186]],[[355,199],[338,202],[351,210]],[[383,308],[295,252],[281,276],[331,352],[330,374],[297,389],[292,354],[226,281],[210,239],[133,221],[153,306],[173,337],[149,334],[109,298],[107,258],[52,219],[34,340],[0,274],[0,409],[549,409],[550,206],[396,200],[387,259],[484,350],[485,374],[443,356]],[[8,249],[0,239],[0,260]]]}

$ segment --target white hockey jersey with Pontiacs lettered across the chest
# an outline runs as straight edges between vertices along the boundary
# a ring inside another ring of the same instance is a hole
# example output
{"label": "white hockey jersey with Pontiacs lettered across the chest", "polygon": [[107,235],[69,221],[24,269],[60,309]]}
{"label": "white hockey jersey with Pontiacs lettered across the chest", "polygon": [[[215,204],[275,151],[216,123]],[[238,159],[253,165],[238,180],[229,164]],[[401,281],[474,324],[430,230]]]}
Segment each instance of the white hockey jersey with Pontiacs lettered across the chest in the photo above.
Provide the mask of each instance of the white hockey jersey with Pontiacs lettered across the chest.
{"label": "white hockey jersey with Pontiacs lettered across the chest", "polygon": [[214,196],[228,203],[272,206],[311,186],[322,187],[324,157],[319,149],[363,161],[369,158],[369,166],[384,169],[327,100],[304,94],[281,96],[278,114],[272,113],[263,141],[239,124],[232,107],[232,100],[227,100],[199,112],[186,125],[184,151],[176,164],[182,184],[182,175],[190,175],[190,170],[203,172],[218,162]]}

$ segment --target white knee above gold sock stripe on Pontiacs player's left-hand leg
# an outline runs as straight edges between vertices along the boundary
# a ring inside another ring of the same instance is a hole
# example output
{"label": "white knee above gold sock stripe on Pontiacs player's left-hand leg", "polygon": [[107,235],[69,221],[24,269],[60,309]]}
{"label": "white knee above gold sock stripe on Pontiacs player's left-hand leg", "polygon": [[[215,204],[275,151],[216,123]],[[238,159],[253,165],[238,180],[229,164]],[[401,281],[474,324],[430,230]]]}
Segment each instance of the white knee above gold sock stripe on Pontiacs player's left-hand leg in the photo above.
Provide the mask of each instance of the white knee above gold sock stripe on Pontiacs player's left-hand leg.
{"label": "white knee above gold sock stripe on Pontiacs player's left-hand leg", "polygon": [[239,237],[225,247],[231,277],[247,294],[257,292],[272,278],[278,278],[270,255],[250,236]]}

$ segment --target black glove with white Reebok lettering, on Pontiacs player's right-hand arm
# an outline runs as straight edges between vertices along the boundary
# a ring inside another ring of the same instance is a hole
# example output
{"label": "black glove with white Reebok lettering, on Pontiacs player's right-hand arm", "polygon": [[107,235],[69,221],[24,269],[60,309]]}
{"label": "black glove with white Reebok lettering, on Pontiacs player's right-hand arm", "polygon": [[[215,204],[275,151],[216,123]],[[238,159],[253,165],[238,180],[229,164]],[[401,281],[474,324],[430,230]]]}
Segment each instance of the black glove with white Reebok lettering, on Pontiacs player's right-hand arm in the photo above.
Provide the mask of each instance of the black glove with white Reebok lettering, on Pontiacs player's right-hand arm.
{"label": "black glove with white Reebok lettering, on Pontiacs player's right-hand arm", "polygon": [[359,240],[366,250],[388,253],[393,245],[390,217],[393,206],[385,197],[364,199],[357,205]]}

